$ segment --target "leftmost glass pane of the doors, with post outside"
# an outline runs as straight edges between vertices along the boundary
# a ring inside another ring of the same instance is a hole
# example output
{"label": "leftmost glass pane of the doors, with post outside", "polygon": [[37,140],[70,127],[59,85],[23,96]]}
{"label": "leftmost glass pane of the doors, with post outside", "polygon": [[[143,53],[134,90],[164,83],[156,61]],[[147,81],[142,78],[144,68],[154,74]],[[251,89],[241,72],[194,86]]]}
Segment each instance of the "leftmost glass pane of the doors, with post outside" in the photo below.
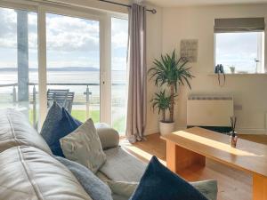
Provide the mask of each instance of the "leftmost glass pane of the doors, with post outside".
{"label": "leftmost glass pane of the doors, with post outside", "polygon": [[0,108],[16,108],[36,126],[37,14],[0,8]]}

